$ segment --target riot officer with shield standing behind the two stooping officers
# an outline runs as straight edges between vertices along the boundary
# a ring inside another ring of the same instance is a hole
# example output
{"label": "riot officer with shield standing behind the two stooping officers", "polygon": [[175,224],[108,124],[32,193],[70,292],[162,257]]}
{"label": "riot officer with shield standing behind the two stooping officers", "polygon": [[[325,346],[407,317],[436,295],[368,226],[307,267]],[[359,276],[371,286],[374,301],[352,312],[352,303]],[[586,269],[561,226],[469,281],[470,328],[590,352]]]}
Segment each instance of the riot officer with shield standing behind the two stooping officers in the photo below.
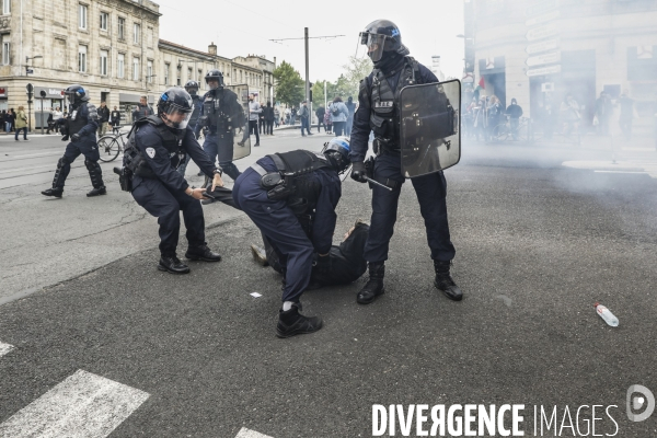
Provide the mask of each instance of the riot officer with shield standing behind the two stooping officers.
{"label": "riot officer with shield standing behind the two stooping officers", "polygon": [[219,157],[219,165],[231,178],[237,180],[240,171],[233,164],[235,128],[244,126],[244,111],[238,95],[223,87],[223,73],[210,70],[205,77],[210,91],[203,96],[200,124],[207,128],[203,149],[212,162]]}

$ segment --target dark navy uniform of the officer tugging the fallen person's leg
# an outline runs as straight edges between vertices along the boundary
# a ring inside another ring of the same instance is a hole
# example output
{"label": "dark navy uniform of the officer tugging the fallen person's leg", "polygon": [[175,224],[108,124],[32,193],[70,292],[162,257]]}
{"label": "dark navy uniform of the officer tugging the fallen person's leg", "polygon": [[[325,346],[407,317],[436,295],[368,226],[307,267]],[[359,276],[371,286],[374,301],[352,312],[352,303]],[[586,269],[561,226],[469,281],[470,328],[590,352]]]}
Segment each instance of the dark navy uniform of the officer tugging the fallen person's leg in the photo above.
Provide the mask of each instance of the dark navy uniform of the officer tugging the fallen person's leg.
{"label": "dark navy uniform of the officer tugging the fallen person's leg", "polygon": [[132,197],[158,218],[162,257],[175,257],[181,210],[187,228],[188,253],[206,249],[203,207],[199,200],[185,194],[189,185],[175,171],[188,158],[212,178],[215,164],[196,141],[192,128],[174,134],[158,116],[137,123],[124,154],[124,166],[134,174]]}

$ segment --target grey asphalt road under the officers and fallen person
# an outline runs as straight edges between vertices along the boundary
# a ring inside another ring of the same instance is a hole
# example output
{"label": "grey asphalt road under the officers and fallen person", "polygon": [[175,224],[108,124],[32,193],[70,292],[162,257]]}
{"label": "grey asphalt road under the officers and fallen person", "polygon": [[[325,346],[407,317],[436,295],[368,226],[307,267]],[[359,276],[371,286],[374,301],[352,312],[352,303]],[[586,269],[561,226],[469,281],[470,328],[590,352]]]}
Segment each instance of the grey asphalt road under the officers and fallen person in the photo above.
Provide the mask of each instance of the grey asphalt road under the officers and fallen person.
{"label": "grey asphalt road under the officers and fallen person", "polygon": [[[273,151],[319,149],[325,139],[281,132],[238,166]],[[657,185],[604,148],[464,147],[446,172],[463,301],[431,286],[424,223],[405,184],[387,293],[357,306],[365,279],[307,292],[304,313],[321,315],[323,330],[278,339],[279,278],[251,260],[249,244],[260,237],[245,216],[204,207],[216,224],[208,242],[223,261],[192,263],[187,276],[162,274],[155,219],[115,182],[107,196],[87,199],[82,168],[71,172],[64,199],[42,198],[51,171],[12,169],[54,165],[61,143],[16,150],[3,140],[0,175],[13,176],[0,189],[1,263],[11,266],[10,275],[2,269],[0,437],[15,436],[23,417],[48,424],[42,405],[32,417],[27,407],[72,376],[77,382],[79,370],[136,391],[139,402],[107,427],[112,437],[260,436],[245,429],[369,437],[372,404],[525,404],[527,436],[534,406],[552,413],[556,405],[561,426],[568,406],[581,434],[566,426],[560,436],[584,436],[593,415],[585,408],[576,422],[577,408],[602,405],[614,422],[599,408],[596,434],[657,436],[657,414],[634,423],[625,413],[631,385],[657,393]],[[11,164],[8,150],[53,154]],[[655,162],[654,152],[630,152],[633,162]],[[357,218],[369,219],[369,196],[367,186],[344,183],[336,240]],[[7,298],[30,287],[26,298]],[[597,301],[618,327],[596,314]],[[60,404],[69,392],[59,391]]]}

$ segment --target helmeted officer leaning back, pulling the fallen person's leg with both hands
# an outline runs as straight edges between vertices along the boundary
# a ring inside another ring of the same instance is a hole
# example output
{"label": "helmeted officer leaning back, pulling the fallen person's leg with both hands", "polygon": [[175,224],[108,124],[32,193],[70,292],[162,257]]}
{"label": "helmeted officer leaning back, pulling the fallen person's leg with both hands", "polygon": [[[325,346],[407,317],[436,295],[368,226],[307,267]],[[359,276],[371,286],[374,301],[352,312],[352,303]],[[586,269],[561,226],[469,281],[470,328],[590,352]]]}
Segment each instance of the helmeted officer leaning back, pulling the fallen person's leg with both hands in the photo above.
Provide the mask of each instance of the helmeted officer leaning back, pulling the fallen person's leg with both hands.
{"label": "helmeted officer leaning back, pulling the fallen person's leg with both hands", "polygon": [[221,170],[208,159],[192,127],[187,126],[192,112],[192,97],[185,90],[177,87],[168,89],[158,101],[158,115],[135,123],[124,153],[122,188],[132,192],[137,204],[158,218],[161,239],[158,269],[172,274],[189,272],[175,252],[181,228],[180,210],[187,227],[185,257],[205,262],[221,260],[205,241],[205,220],[199,201],[204,199],[204,188],[189,187],[176,172],[180,163],[189,155],[212,178],[212,189],[223,185]]}

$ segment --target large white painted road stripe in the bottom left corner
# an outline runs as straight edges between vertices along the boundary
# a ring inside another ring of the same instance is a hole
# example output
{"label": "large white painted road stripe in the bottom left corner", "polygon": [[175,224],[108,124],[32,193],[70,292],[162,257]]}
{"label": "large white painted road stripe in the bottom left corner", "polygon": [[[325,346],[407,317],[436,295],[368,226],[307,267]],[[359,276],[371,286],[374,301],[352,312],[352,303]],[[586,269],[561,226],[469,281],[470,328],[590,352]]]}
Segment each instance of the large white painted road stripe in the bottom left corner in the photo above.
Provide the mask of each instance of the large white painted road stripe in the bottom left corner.
{"label": "large white painted road stripe in the bottom left corner", "polygon": [[0,424],[0,437],[104,438],[149,394],[78,370]]}

